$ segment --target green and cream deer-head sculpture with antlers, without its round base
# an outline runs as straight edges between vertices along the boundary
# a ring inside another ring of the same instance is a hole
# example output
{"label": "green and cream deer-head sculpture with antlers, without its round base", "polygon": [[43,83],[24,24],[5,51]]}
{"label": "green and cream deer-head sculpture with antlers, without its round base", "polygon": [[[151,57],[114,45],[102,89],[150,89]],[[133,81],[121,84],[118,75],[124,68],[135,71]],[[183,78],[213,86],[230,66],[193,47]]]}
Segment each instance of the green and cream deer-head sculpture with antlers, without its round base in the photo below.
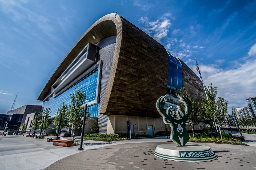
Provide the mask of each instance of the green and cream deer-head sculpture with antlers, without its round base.
{"label": "green and cream deer-head sculpture with antlers, without its round base", "polygon": [[186,123],[189,123],[190,121],[189,116],[192,111],[191,102],[186,97],[181,97],[178,95],[177,97],[180,98],[179,101],[185,106],[185,111],[179,106],[177,106],[176,112],[173,110],[172,106],[168,107],[165,111],[163,103],[167,101],[166,97],[167,95],[161,96],[157,100],[157,111],[163,117],[163,122],[171,126],[170,139],[178,146],[185,146],[189,140],[189,134],[186,130]]}

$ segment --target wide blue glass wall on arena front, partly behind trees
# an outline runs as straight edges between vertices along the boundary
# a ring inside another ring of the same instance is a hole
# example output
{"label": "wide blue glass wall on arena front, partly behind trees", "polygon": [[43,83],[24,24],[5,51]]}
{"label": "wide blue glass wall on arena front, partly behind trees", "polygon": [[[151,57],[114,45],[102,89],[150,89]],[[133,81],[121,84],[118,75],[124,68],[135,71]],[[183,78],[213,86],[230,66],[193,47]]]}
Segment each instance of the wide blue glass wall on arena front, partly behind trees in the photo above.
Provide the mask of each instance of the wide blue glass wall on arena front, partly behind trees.
{"label": "wide blue glass wall on arena front, partly behind trees", "polygon": [[[63,101],[69,106],[71,104],[70,94],[75,92],[75,88],[78,88],[85,91],[86,98],[88,102],[94,101],[96,99],[96,89],[97,89],[97,79],[98,79],[98,68],[93,69],[90,73],[88,73],[85,77],[79,80],[72,87],[67,89],[65,92],[61,93],[56,98],[51,97],[49,100],[43,102],[43,108],[50,108],[51,115],[54,116],[59,107],[62,105]],[[86,102],[86,101],[85,101]],[[84,102],[84,104],[85,104]],[[91,117],[97,117],[98,115],[98,103],[95,105],[91,105],[87,107],[87,111],[90,112]]]}

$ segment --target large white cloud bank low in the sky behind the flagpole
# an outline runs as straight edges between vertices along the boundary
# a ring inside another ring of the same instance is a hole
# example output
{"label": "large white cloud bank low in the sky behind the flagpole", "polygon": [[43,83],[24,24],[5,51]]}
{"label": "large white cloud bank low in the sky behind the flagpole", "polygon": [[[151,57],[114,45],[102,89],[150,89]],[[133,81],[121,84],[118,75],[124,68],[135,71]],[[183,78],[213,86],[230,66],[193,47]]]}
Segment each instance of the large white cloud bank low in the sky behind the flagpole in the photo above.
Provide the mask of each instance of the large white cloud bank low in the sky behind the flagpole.
{"label": "large white cloud bank low in the sky behind the flagpole", "polygon": [[[218,87],[218,95],[229,101],[229,110],[247,105],[246,99],[256,96],[256,58],[234,65],[234,69],[223,70],[217,65],[199,64],[205,85],[213,83]],[[193,71],[198,75],[196,67]]]}

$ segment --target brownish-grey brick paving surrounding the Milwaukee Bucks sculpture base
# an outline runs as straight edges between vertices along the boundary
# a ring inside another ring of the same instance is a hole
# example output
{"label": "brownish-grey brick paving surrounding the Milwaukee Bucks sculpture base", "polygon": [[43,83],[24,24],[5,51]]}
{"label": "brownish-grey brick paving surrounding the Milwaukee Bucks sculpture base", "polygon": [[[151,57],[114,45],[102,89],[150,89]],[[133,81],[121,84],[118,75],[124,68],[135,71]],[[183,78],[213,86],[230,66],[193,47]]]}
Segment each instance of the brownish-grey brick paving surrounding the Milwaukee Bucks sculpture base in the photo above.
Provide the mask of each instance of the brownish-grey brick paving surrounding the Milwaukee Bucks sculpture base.
{"label": "brownish-grey brick paving surrounding the Milwaukee Bucks sculpture base", "polygon": [[208,162],[178,162],[154,156],[154,150],[159,144],[163,143],[119,144],[81,151],[46,169],[256,169],[255,147],[204,143],[211,147],[218,159]]}

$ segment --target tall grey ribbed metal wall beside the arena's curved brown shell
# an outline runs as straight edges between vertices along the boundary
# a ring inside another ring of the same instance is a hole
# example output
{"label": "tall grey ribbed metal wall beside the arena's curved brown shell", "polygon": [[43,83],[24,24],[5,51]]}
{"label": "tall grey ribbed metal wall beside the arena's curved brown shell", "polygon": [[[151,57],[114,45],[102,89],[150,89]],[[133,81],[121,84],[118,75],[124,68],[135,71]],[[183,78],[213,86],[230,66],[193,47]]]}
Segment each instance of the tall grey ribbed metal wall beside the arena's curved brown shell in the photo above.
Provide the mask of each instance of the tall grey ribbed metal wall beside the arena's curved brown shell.
{"label": "tall grey ribbed metal wall beside the arena's curved brown shell", "polygon": [[105,97],[107,83],[109,81],[109,75],[110,75],[110,70],[111,70],[114,51],[115,51],[115,41],[116,41],[116,36],[111,36],[101,40],[96,44],[99,47],[98,60],[102,60],[101,89],[100,89],[101,91],[100,91],[99,108],[98,108],[98,123],[99,123],[100,133],[107,133],[107,115],[100,114],[100,112],[101,112],[102,102]]}

